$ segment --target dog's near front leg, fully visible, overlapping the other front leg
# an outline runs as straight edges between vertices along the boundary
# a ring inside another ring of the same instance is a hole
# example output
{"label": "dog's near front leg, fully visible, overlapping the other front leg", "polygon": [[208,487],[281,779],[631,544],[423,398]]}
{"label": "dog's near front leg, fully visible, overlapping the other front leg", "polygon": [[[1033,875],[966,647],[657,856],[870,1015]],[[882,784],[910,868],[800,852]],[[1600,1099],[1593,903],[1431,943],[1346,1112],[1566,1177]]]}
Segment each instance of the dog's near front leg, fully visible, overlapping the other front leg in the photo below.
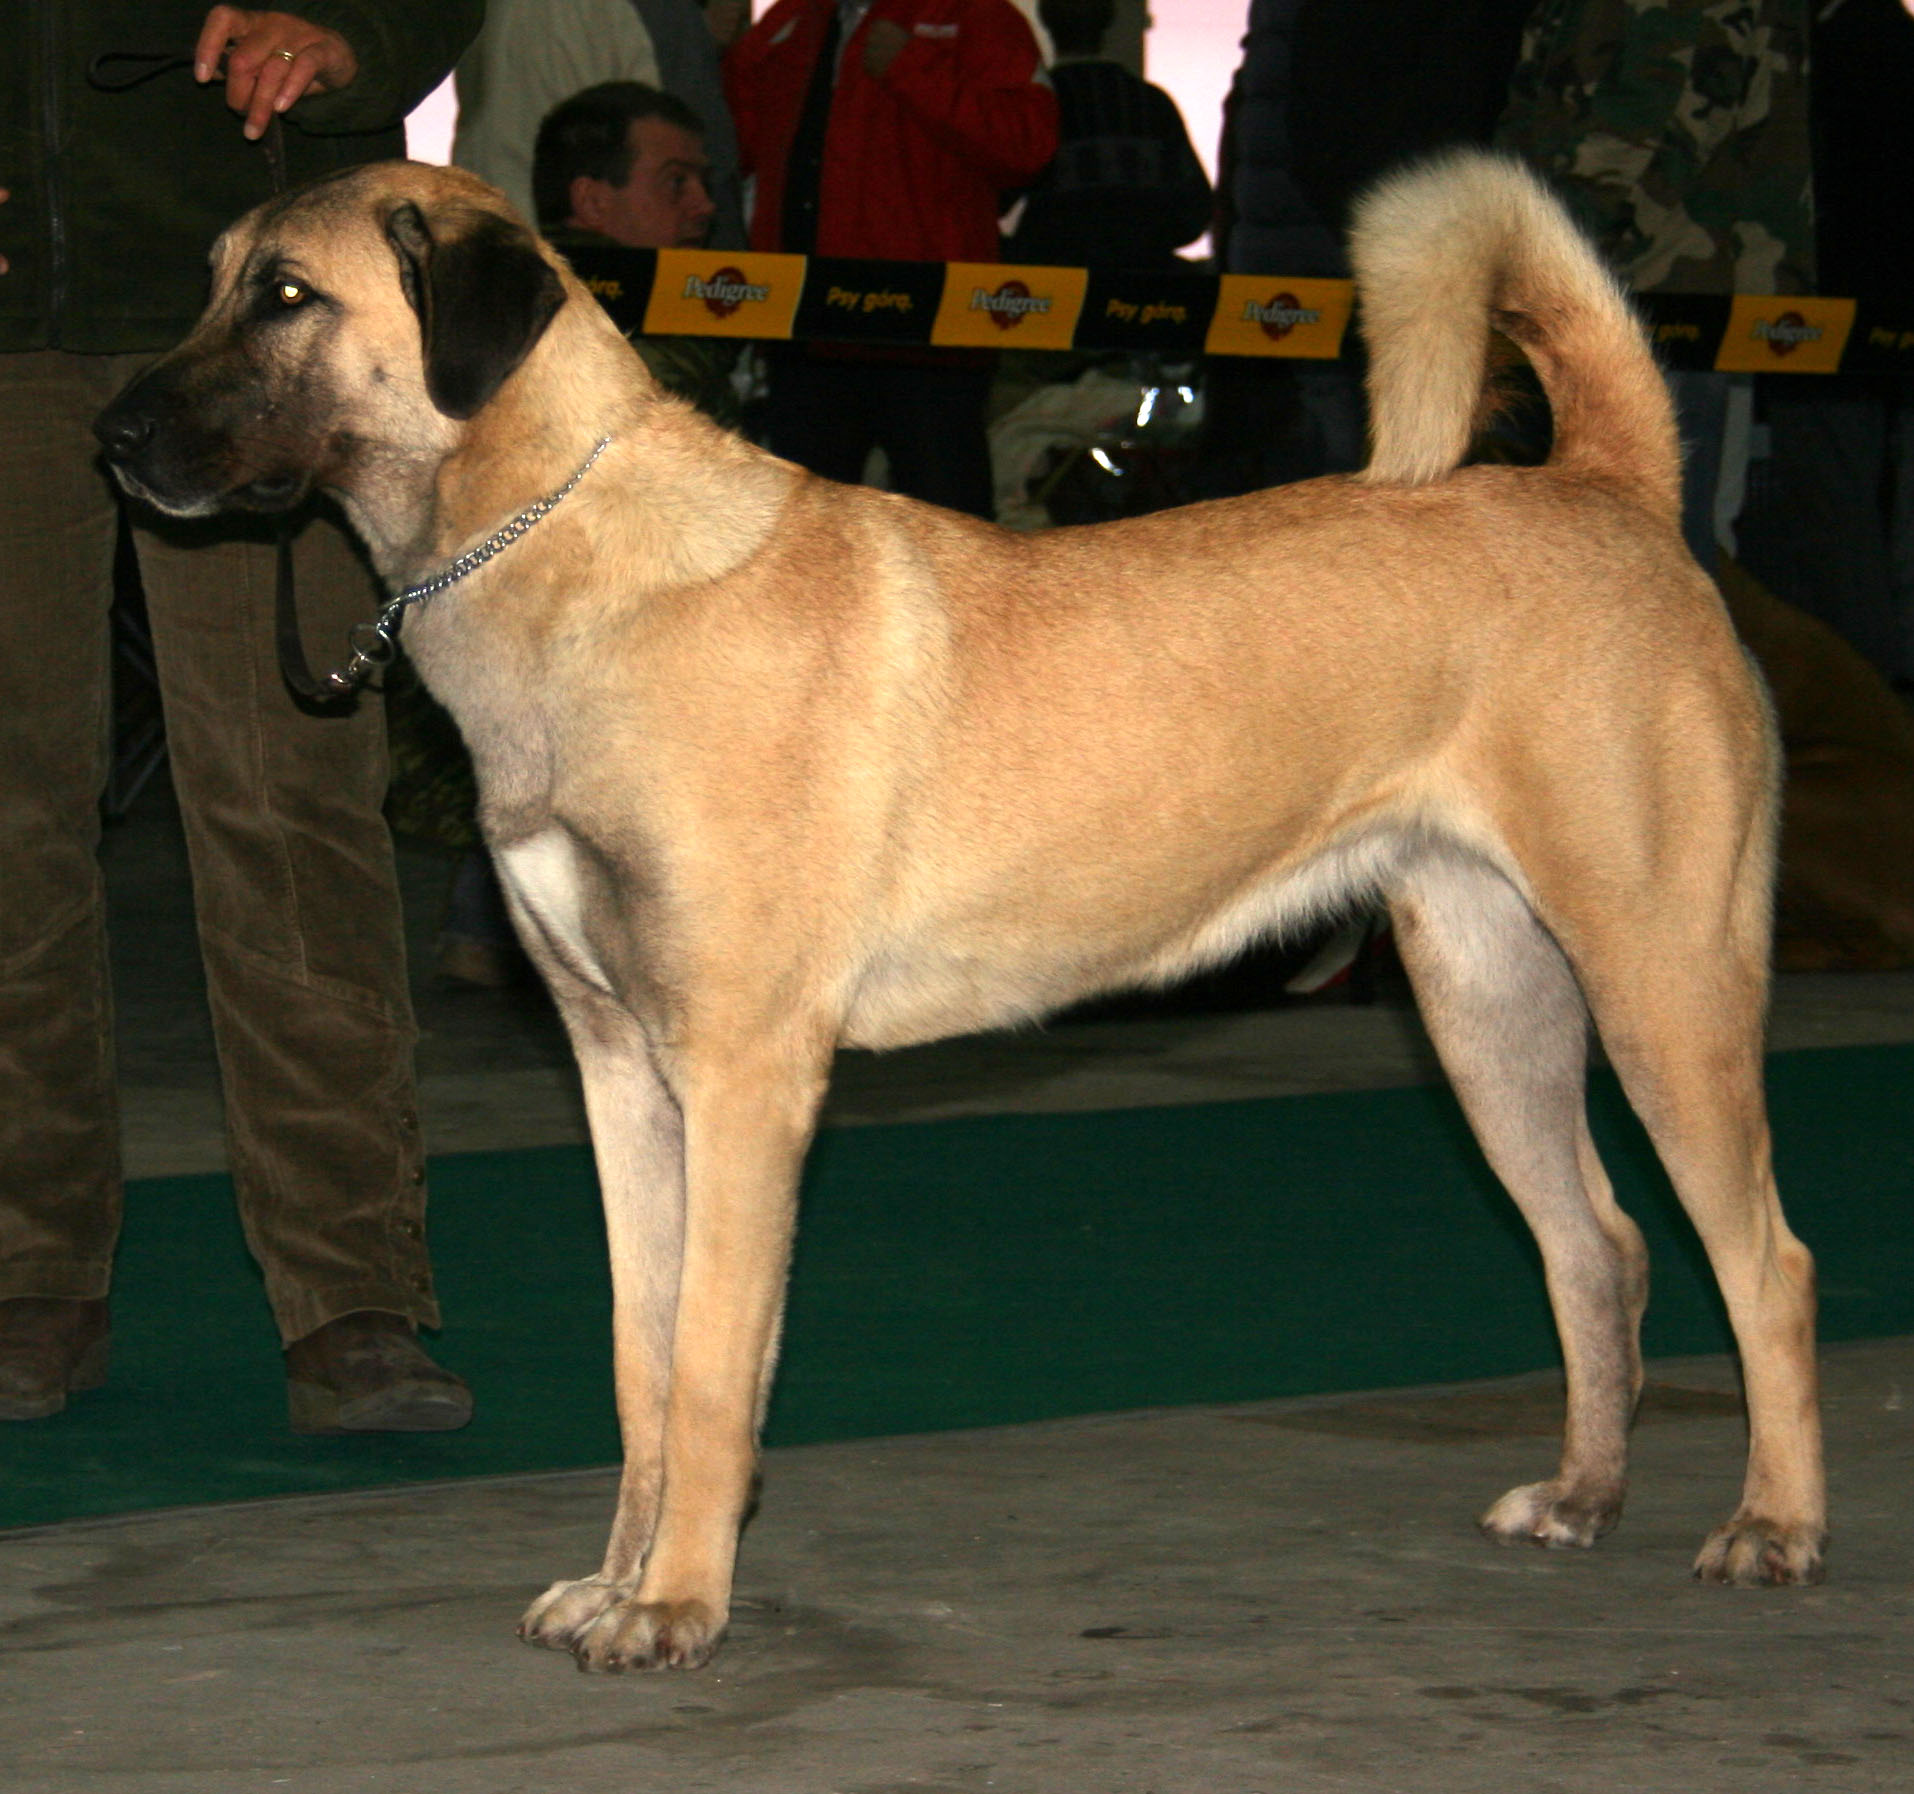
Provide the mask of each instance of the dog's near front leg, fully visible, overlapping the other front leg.
{"label": "dog's near front leg, fully visible, overlapping the other front leg", "polygon": [[[689,1053],[674,1066],[685,1237],[662,1505],[635,1591],[616,1591],[576,1637],[584,1670],[697,1668],[723,1635],[777,1356],[798,1174],[827,1068],[827,1051],[748,1047]],[[622,1371],[620,1357],[620,1382]],[[620,1509],[618,1532],[626,1524]]]}

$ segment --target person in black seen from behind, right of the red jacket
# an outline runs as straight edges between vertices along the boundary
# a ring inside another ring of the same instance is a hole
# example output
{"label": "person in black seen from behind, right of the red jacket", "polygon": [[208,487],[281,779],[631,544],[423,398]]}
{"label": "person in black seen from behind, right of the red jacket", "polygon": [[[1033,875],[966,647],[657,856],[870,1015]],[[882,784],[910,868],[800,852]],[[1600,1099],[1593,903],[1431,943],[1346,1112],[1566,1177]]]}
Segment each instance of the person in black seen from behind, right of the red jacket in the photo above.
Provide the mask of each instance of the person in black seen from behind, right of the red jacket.
{"label": "person in black seen from behind, right of the red jacket", "polygon": [[1062,268],[1162,268],[1210,228],[1210,176],[1162,88],[1106,61],[1116,0],[1041,0],[1057,48],[1057,159],[1005,255]]}

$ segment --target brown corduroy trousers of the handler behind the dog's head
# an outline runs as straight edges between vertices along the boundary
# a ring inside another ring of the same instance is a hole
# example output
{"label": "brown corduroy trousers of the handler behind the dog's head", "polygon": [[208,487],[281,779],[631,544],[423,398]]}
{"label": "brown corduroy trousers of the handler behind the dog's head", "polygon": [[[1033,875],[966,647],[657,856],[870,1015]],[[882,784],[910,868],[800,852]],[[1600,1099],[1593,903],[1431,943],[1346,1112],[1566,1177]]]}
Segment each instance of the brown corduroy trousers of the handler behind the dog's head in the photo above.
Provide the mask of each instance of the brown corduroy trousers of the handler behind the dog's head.
{"label": "brown corduroy trousers of the handler behind the dog's head", "polygon": [[[98,862],[119,513],[88,425],[147,360],[0,356],[0,1300],[103,1296],[119,1237]],[[134,544],[239,1216],[281,1338],[356,1310],[438,1325],[383,708],[287,695],[270,532],[138,517]],[[373,586],[327,521],[297,567],[320,659]]]}

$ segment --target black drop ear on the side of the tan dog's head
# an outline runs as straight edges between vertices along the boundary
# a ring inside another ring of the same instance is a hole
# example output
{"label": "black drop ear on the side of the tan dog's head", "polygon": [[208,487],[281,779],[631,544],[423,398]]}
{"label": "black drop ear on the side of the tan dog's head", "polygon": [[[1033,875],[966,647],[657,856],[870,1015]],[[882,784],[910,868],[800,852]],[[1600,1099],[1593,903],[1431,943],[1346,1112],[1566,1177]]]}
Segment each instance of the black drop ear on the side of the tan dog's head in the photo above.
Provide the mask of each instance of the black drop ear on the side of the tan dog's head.
{"label": "black drop ear on the side of the tan dog's head", "polygon": [[385,220],[385,237],[419,314],[427,394],[448,417],[477,415],[565,304],[559,276],[523,224],[490,213],[438,239],[406,201]]}

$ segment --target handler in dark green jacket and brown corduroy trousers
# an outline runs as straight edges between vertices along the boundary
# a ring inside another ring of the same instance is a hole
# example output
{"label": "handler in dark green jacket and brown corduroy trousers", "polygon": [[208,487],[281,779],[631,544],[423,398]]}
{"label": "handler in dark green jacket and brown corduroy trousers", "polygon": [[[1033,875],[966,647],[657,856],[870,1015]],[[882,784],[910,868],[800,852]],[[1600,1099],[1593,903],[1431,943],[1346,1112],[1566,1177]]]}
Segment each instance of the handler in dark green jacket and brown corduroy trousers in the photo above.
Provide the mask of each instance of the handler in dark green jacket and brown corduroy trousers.
{"label": "handler in dark green jacket and brown corduroy trousers", "polygon": [[[0,1419],[105,1377],[121,1220],[98,865],[121,513],[92,417],[197,318],[212,239],[281,182],[404,155],[478,0],[23,0],[0,57]],[[270,534],[126,525],[247,1241],[300,1430],[461,1426],[417,1344],[415,1028],[381,818],[385,720],[302,710],[274,662]],[[310,639],[371,615],[341,527],[295,546]],[[182,1315],[189,1296],[182,1292]],[[182,1325],[186,1325],[182,1321]]]}

